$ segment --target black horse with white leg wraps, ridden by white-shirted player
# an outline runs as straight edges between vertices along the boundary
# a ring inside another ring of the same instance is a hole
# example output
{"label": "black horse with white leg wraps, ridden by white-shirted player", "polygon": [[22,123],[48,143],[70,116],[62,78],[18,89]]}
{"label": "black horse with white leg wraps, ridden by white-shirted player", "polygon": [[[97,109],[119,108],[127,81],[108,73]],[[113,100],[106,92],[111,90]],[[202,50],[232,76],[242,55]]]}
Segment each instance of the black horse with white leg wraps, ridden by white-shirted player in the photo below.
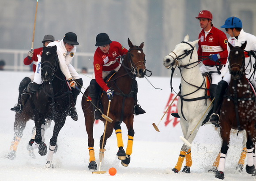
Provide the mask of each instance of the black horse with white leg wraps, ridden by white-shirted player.
{"label": "black horse with white leg wraps, ridden by white-shirted player", "polygon": [[[38,148],[39,155],[47,154],[44,143],[45,118],[54,120],[53,136],[50,139],[46,167],[54,168],[53,153],[57,137],[65,124],[68,111],[74,104],[72,92],[59,66],[57,47],[46,47],[41,54],[41,78],[43,83],[37,93],[29,99],[34,114],[36,135],[32,147]],[[31,143],[30,143],[31,144]]]}

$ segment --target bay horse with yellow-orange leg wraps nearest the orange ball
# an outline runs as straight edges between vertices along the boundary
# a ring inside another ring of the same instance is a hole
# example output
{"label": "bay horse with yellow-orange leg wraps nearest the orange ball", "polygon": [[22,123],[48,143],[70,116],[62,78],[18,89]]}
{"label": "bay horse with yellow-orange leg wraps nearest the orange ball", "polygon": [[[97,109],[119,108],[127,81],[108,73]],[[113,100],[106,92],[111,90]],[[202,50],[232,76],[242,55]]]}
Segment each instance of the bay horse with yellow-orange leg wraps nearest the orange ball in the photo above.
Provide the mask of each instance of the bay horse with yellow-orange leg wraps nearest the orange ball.
{"label": "bay horse with yellow-orange leg wraps nearest the orange ball", "polygon": [[[113,120],[112,123],[106,125],[106,120],[101,119],[104,122],[105,126],[105,139],[103,143],[104,133],[100,139],[100,154],[104,154],[105,144],[107,139],[112,135],[113,129],[117,136],[117,146],[118,159],[121,160],[123,166],[128,166],[130,163],[130,155],[132,154],[132,145],[133,145],[133,118],[134,118],[134,98],[133,98],[133,88],[136,83],[136,77],[143,78],[146,74],[146,60],[145,54],[143,52],[143,45],[141,43],[139,46],[132,44],[128,38],[129,50],[128,53],[124,56],[124,60],[121,63],[120,69],[117,73],[108,81],[107,85],[109,88],[113,88],[114,95],[111,100],[109,107],[109,118]],[[84,95],[88,96],[89,88],[84,92]],[[101,97],[101,102],[104,107],[104,114],[107,114],[107,109],[109,105],[109,99],[106,93],[104,92]],[[88,134],[88,149],[89,149],[89,165],[90,170],[97,170],[96,159],[94,155],[94,138],[93,138],[93,126],[94,126],[94,112],[93,105],[87,100],[87,97],[83,96],[82,98],[82,109],[85,117],[85,126]],[[128,144],[126,151],[124,151],[124,144],[122,140],[122,130],[120,124],[124,122],[128,129]],[[103,143],[103,148],[102,148]],[[100,170],[100,169],[99,169]]]}

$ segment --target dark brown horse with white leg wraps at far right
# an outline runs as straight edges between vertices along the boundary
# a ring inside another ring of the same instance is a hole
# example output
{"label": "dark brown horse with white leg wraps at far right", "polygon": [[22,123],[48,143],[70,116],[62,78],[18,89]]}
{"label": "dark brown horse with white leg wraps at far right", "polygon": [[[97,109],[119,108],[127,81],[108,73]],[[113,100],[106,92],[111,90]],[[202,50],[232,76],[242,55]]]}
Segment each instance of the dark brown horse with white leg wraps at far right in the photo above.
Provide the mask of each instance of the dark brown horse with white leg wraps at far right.
{"label": "dark brown horse with white leg wraps at far right", "polygon": [[[226,154],[229,149],[230,130],[245,130],[247,136],[247,165],[245,170],[248,174],[256,174],[255,142],[256,142],[256,96],[252,85],[245,77],[245,53],[247,42],[241,47],[233,47],[229,42],[229,67],[231,81],[226,89],[220,113],[220,133],[222,147],[216,178],[224,179]],[[228,114],[227,114],[228,113]],[[254,158],[255,159],[255,158]]]}

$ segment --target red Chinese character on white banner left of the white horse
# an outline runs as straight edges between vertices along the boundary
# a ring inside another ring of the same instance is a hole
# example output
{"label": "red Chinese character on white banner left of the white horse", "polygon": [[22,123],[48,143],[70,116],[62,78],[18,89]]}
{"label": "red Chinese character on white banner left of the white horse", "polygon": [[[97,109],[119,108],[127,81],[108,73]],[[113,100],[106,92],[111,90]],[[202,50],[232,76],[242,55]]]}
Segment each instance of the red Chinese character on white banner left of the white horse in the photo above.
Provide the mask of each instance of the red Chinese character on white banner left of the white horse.
{"label": "red Chinese character on white banner left of the white horse", "polygon": [[[170,103],[173,102],[173,99],[175,98],[175,94],[171,93],[169,100],[166,104],[166,108],[165,110],[169,107]],[[180,118],[175,118],[171,115],[171,113],[173,112],[178,112],[177,110],[177,103],[178,103],[178,97],[176,97],[176,100],[174,100],[173,104],[171,105],[171,107],[169,108],[169,110],[167,111],[167,117],[166,117],[166,122],[165,122],[165,126],[167,126],[170,122],[173,121],[173,127],[175,127],[179,122],[180,122]]]}

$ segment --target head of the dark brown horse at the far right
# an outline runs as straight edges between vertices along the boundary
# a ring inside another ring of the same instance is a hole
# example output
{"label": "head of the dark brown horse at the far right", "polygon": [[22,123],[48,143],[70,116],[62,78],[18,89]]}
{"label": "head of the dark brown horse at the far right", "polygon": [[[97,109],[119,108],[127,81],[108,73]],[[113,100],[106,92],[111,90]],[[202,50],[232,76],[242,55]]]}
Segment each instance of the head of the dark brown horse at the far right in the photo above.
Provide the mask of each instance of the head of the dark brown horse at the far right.
{"label": "head of the dark brown horse at the far right", "polygon": [[240,79],[242,74],[245,74],[245,52],[244,49],[246,47],[247,41],[241,45],[241,47],[236,46],[233,47],[230,42],[228,45],[230,47],[229,54],[229,68],[231,78],[234,80]]}

